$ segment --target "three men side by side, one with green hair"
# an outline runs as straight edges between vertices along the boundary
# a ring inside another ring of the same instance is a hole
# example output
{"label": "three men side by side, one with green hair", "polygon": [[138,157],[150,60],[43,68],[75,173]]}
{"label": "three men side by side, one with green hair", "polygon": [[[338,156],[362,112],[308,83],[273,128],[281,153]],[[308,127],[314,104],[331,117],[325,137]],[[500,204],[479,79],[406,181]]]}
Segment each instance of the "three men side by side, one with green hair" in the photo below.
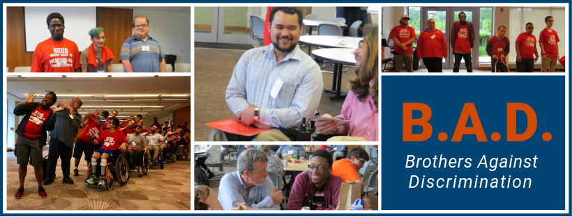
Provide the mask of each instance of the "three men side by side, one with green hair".
{"label": "three men side by side, one with green hair", "polygon": [[[75,42],[63,38],[66,26],[60,13],[51,13],[46,22],[52,37],[36,46],[30,72],[113,72],[115,56],[105,47],[103,28],[89,31],[92,43],[80,55]],[[165,72],[165,54],[149,35],[149,19],[135,17],[131,27],[133,36],[123,42],[119,56],[125,72]]]}

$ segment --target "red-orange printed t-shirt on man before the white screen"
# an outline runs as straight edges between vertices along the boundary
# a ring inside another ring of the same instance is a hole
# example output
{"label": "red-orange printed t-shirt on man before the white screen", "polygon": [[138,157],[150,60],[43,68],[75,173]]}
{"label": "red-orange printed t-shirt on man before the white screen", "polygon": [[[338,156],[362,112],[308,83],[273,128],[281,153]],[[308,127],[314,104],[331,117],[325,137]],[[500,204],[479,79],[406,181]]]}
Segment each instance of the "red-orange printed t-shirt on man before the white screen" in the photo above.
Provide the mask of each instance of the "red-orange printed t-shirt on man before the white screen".
{"label": "red-orange printed t-shirt on man before the white screen", "polygon": [[74,72],[80,65],[80,51],[75,42],[50,38],[38,43],[33,51],[30,72]]}

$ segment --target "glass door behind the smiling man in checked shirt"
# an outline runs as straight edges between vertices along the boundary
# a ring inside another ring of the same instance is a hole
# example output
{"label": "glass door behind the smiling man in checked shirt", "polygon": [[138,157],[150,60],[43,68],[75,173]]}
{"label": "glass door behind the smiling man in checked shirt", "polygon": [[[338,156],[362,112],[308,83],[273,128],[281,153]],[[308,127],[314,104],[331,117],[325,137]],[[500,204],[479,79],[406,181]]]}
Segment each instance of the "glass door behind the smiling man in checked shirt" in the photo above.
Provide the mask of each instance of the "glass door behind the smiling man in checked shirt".
{"label": "glass door behind the smiling man in checked shirt", "polygon": [[195,41],[258,44],[250,38],[247,13],[260,16],[262,7],[195,7]]}

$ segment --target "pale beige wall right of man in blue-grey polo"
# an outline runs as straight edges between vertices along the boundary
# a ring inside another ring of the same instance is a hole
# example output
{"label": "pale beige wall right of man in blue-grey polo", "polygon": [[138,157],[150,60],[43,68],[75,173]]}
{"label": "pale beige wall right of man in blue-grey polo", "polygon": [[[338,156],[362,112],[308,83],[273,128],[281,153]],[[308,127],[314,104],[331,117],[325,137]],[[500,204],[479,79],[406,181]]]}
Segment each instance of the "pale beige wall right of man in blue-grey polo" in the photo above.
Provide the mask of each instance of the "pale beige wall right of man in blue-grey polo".
{"label": "pale beige wall right of man in blue-grey polo", "polygon": [[133,18],[149,19],[149,35],[159,41],[165,54],[176,55],[175,63],[190,63],[189,13],[133,9]]}

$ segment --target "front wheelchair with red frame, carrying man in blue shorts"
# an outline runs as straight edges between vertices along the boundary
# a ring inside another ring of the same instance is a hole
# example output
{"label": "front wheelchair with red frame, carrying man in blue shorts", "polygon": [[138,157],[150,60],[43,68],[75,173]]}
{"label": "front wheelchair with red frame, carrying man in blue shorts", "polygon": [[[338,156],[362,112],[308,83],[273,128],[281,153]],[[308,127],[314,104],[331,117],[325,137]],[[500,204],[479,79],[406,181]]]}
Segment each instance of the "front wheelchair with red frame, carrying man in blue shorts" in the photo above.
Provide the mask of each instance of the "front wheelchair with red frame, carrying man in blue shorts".
{"label": "front wheelchair with red frame, carrying man in blue shorts", "polygon": [[[109,160],[109,159],[108,159]],[[98,160],[100,162],[100,160]],[[91,162],[87,165],[87,179],[89,179],[89,175],[91,175]],[[119,183],[120,186],[124,186],[129,182],[130,171],[129,171],[129,161],[127,157],[117,151],[114,156],[112,156],[111,161],[107,162],[107,170],[101,171],[101,167],[97,166],[96,168],[96,177],[101,177],[102,172],[105,172],[105,188],[111,191],[113,190],[113,182],[116,181]],[[98,186],[98,184],[88,183],[85,182],[86,186]]]}

